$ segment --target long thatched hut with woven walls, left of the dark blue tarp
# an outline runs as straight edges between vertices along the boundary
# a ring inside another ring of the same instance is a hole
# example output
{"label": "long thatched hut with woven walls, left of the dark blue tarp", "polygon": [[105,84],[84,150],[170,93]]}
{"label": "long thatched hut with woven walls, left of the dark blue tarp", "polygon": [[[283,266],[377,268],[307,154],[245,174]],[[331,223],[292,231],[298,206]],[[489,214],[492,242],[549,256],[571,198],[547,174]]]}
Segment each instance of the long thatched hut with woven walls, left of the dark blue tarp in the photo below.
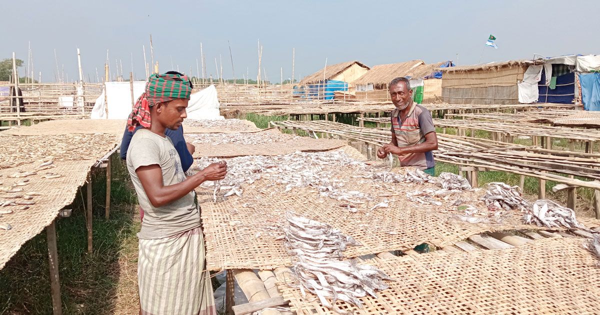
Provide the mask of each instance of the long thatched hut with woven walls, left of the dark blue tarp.
{"label": "long thatched hut with woven walls, left of the dark blue tarp", "polygon": [[532,61],[439,68],[442,99],[450,104],[518,104],[518,83]]}

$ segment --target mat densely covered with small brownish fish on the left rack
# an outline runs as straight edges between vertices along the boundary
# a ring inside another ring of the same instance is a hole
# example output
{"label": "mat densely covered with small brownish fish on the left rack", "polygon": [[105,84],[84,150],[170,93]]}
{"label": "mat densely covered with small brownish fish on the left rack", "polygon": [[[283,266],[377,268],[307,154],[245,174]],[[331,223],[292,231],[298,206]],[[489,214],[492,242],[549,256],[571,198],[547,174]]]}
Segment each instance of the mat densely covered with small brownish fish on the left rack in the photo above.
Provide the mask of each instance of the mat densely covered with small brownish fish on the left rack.
{"label": "mat densely covered with small brownish fish on the left rack", "polygon": [[98,160],[121,141],[121,134],[59,134],[10,136],[0,134],[0,169],[38,160]]}

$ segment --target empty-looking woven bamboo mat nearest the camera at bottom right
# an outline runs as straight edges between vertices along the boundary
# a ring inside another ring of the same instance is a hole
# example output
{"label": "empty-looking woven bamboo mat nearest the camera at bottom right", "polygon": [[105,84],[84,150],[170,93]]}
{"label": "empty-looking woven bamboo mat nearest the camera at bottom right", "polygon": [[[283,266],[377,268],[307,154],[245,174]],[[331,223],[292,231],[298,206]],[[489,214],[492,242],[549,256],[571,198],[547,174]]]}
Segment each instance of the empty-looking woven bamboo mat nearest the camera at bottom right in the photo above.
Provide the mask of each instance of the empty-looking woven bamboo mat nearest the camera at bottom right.
{"label": "empty-looking woven bamboo mat nearest the camera at bottom right", "polygon": [[[598,314],[599,260],[581,242],[546,239],[507,250],[376,258],[367,263],[397,281],[377,299],[362,298],[362,310],[336,305],[349,314]],[[278,281],[298,315],[337,314],[290,287],[289,273]]]}

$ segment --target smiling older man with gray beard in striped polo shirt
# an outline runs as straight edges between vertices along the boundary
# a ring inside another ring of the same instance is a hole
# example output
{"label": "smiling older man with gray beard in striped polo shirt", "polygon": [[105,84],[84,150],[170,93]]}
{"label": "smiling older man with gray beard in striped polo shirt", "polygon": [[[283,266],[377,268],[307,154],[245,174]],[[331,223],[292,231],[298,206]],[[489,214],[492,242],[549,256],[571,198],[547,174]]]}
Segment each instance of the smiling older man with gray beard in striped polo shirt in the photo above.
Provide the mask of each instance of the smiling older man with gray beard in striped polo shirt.
{"label": "smiling older man with gray beard in striped polo shirt", "polygon": [[437,149],[436,128],[431,113],[412,99],[413,91],[406,77],[389,83],[389,95],[396,107],[392,111],[392,142],[377,150],[377,157],[398,155],[400,166],[414,166],[434,175],[433,150]]}

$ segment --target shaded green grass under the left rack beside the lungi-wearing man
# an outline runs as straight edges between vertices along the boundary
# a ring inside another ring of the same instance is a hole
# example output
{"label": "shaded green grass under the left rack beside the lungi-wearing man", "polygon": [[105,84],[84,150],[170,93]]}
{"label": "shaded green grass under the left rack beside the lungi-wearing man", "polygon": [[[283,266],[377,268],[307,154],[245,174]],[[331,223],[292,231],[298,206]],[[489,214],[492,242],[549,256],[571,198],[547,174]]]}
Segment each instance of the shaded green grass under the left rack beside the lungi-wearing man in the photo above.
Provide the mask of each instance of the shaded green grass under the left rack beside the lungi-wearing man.
{"label": "shaded green grass under the left rack beside the lungi-wearing man", "polygon": [[[134,223],[137,208],[134,191],[127,187],[127,169],[113,157],[112,206],[110,220],[104,219],[106,177],[95,169],[94,251],[87,254],[87,232],[83,198],[78,191],[71,217],[56,221],[59,276],[64,314],[111,313],[116,301],[119,253],[137,242]],[[26,242],[0,270],[0,314],[51,314],[50,279],[46,233]]]}

